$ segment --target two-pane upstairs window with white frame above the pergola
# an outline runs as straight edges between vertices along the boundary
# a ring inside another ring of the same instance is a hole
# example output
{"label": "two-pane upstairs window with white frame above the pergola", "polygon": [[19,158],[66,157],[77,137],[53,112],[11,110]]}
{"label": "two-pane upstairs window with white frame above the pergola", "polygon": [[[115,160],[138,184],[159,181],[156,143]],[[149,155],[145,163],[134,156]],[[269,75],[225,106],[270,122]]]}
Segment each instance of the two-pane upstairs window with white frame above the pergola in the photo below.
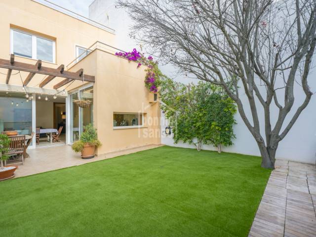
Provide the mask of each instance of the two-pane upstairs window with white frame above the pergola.
{"label": "two-pane upstairs window with white frame above the pergola", "polygon": [[55,63],[55,41],[11,29],[11,53],[26,58]]}

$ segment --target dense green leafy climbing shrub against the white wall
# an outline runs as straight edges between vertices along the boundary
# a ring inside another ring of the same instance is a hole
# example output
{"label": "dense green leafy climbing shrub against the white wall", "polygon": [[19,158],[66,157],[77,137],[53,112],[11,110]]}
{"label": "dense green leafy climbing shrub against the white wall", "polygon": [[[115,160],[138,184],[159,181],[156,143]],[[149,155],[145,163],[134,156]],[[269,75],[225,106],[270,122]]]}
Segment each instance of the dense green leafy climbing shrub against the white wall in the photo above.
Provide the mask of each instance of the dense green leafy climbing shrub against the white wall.
{"label": "dense green leafy climbing shrub against the white wall", "polygon": [[161,81],[161,109],[173,127],[175,143],[180,140],[194,144],[213,144],[218,152],[221,145],[232,145],[236,105],[226,93],[210,83],[199,81],[185,85],[172,79]]}

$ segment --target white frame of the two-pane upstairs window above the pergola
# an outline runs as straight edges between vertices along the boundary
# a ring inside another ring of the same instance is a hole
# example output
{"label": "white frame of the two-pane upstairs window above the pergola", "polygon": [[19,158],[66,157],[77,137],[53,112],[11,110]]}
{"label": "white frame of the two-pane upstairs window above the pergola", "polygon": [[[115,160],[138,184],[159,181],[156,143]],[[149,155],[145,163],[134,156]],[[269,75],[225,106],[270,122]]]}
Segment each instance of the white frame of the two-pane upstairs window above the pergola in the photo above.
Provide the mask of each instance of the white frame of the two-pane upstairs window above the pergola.
{"label": "white frame of the two-pane upstairs window above the pergola", "polygon": [[[42,36],[39,36],[39,35],[36,35],[36,34],[32,34],[30,32],[22,31],[20,29],[15,29],[15,28],[11,28],[10,29],[10,53],[11,54],[13,54],[13,52],[14,52],[14,48],[13,48],[13,45],[14,45],[13,44],[13,42],[14,42],[14,39],[13,39],[14,38],[14,36],[13,36],[14,34],[13,34],[13,32],[14,31],[32,36],[32,58],[31,59],[38,60],[38,58],[37,58],[37,38],[51,41],[52,42],[52,47],[53,47],[52,48],[52,50],[53,50],[53,61],[52,62],[45,61],[45,60],[42,60],[42,61],[43,62],[47,62],[47,63],[54,63],[54,64],[56,63],[56,41],[55,40],[48,39],[48,38],[45,38],[45,37],[42,37]],[[29,58],[29,57],[20,56],[20,55],[16,55],[16,56],[19,56],[19,57],[22,57],[22,58]]]}

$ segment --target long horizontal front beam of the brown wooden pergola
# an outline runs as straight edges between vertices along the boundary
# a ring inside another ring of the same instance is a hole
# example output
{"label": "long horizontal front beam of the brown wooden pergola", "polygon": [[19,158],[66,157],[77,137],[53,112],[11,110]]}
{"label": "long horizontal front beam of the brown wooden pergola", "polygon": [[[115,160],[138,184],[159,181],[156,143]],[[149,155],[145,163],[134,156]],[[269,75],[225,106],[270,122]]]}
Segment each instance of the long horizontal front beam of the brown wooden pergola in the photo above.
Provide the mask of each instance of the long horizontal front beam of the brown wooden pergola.
{"label": "long horizontal front beam of the brown wooden pergola", "polygon": [[69,71],[64,71],[63,73],[61,73],[59,69],[53,69],[48,67],[40,67],[40,69],[38,69],[37,65],[32,65],[28,63],[14,62],[13,64],[11,64],[11,60],[6,59],[0,59],[0,68],[6,68],[29,73],[38,73],[47,76],[55,76],[66,79],[84,80],[89,82],[95,81],[94,76],[83,75],[83,71],[79,74],[77,72],[75,73]]}

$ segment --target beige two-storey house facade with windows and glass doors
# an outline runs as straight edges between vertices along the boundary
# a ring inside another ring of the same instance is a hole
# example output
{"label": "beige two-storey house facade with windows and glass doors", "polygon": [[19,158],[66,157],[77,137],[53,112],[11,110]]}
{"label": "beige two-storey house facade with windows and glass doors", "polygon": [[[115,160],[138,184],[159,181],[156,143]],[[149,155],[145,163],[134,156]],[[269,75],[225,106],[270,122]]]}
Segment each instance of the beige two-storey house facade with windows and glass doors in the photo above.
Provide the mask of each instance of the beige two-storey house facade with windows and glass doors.
{"label": "beige two-storey house facade with windows and glass doors", "polygon": [[[113,29],[35,0],[1,0],[0,14],[0,131],[63,125],[71,145],[93,123],[102,143],[97,155],[160,144],[160,108],[145,87],[146,66],[115,55]],[[19,63],[36,73],[15,68]],[[44,74],[44,67],[63,77]],[[90,105],[79,107],[80,100]],[[29,148],[37,148],[35,137]]]}

